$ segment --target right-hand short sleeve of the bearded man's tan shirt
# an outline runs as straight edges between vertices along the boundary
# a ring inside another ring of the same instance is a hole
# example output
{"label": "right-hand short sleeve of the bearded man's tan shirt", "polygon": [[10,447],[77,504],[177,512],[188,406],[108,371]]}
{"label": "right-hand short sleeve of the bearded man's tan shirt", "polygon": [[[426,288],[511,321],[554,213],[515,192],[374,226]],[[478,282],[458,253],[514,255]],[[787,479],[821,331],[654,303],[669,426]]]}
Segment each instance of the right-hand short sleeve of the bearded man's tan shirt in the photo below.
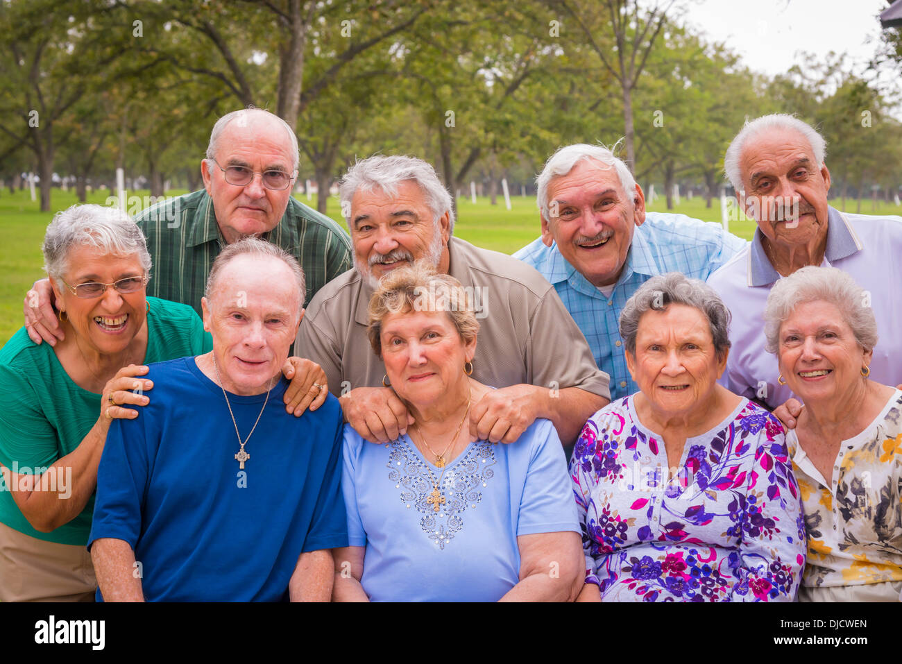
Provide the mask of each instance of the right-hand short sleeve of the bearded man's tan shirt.
{"label": "right-hand short sleeve of the bearded man's tan shirt", "polygon": [[529,358],[533,385],[578,387],[611,399],[611,377],[595,364],[582,330],[550,286],[529,322]]}

